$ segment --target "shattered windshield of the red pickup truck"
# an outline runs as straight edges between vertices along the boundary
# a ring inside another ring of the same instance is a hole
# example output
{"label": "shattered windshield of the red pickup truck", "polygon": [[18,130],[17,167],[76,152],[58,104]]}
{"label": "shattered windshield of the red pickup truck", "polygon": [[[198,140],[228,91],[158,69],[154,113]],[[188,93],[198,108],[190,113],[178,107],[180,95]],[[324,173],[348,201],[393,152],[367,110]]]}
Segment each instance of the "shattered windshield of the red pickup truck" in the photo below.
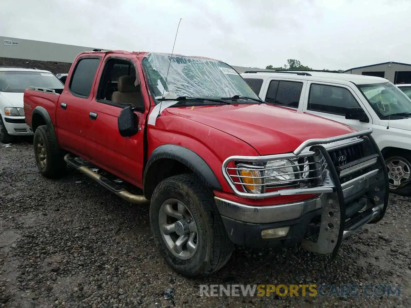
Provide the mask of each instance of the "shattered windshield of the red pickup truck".
{"label": "shattered windshield of the red pickup truck", "polygon": [[[240,95],[259,99],[242,77],[229,65],[216,60],[150,53],[142,61],[150,92],[158,99],[164,97],[201,97],[221,99]],[[169,69],[170,65],[170,69]],[[166,75],[169,69],[169,75]],[[243,99],[249,100],[249,99]]]}

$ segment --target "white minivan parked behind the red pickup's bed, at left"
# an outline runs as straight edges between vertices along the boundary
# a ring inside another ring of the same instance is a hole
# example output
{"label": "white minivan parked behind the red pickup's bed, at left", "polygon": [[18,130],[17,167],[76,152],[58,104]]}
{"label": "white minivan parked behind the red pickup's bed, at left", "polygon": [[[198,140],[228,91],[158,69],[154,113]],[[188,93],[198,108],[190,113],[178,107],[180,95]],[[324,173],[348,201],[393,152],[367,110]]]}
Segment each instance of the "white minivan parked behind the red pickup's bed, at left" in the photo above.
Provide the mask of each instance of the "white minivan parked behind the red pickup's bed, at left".
{"label": "white minivan parked behind the red pickup's bed, at left", "polygon": [[0,142],[10,143],[15,136],[33,134],[25,123],[23,110],[24,90],[30,86],[53,89],[56,93],[64,87],[49,71],[0,67]]}

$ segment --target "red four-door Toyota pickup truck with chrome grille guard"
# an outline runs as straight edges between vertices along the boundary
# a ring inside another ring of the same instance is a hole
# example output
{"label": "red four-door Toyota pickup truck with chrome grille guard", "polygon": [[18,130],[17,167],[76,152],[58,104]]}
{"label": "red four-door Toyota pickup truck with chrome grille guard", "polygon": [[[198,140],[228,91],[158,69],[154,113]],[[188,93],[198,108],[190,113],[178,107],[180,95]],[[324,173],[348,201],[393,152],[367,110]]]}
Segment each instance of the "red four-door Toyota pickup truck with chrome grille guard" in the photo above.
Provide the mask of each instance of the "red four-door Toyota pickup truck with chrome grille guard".
{"label": "red four-door Toyota pickup truck with chrome grille guard", "polygon": [[64,89],[25,90],[24,111],[39,171],[59,177],[69,165],[129,202],[150,203],[156,244],[186,276],[220,269],[233,244],[301,243],[335,255],[387,208],[371,129],[265,103],[218,60],[81,53]]}

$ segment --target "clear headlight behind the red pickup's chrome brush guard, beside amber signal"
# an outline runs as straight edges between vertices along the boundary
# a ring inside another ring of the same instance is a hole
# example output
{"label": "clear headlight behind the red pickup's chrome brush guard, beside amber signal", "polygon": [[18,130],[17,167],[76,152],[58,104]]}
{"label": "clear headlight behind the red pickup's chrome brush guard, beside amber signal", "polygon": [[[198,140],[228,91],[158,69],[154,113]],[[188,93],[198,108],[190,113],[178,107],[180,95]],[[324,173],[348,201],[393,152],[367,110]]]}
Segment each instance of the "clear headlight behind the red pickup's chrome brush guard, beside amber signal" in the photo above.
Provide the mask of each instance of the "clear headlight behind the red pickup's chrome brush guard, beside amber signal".
{"label": "clear headlight behind the red pickup's chrome brush guard, beside amber signal", "polygon": [[284,186],[298,179],[299,170],[296,164],[288,159],[268,161],[265,169],[267,186]]}

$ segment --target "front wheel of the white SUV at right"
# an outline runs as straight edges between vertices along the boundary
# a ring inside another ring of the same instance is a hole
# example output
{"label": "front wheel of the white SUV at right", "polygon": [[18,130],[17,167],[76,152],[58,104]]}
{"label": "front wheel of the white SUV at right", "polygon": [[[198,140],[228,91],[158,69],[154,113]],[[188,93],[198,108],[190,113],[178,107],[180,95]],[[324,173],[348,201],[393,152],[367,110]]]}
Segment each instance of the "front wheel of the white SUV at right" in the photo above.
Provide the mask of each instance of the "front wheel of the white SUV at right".
{"label": "front wheel of the white SUV at right", "polygon": [[[411,153],[403,149],[393,150],[386,153],[384,159],[388,170],[390,192],[403,196],[411,195]],[[400,170],[397,170],[398,168]],[[399,185],[398,188],[395,188],[395,177],[401,178],[405,175],[408,178],[405,180],[407,183],[404,186]]]}

